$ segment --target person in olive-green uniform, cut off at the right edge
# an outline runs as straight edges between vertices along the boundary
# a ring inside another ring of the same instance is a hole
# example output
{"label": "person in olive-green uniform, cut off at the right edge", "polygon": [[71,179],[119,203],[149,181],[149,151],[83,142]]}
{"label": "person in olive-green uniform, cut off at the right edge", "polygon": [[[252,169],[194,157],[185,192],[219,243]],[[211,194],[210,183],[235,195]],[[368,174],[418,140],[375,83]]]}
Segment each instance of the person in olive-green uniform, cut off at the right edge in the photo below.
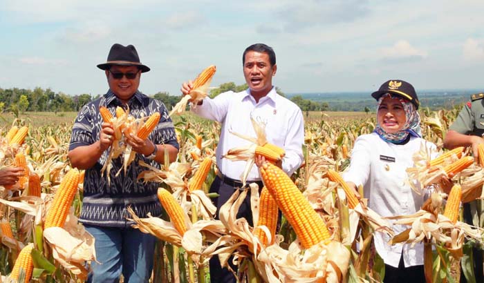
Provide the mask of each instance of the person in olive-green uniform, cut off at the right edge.
{"label": "person in olive-green uniform, cut off at the right edge", "polygon": [[[477,93],[471,95],[471,100],[468,101],[454,123],[450,126],[444,140],[444,147],[448,149],[456,148],[458,146],[471,146],[474,158],[478,157],[478,144],[484,144],[484,93]],[[468,204],[464,204],[464,219],[468,224],[483,227],[484,216],[483,212],[484,201],[476,200]],[[476,275],[476,282],[484,282],[483,274],[483,249],[482,247],[474,247],[474,273]],[[464,276],[461,276],[461,281]]]}

